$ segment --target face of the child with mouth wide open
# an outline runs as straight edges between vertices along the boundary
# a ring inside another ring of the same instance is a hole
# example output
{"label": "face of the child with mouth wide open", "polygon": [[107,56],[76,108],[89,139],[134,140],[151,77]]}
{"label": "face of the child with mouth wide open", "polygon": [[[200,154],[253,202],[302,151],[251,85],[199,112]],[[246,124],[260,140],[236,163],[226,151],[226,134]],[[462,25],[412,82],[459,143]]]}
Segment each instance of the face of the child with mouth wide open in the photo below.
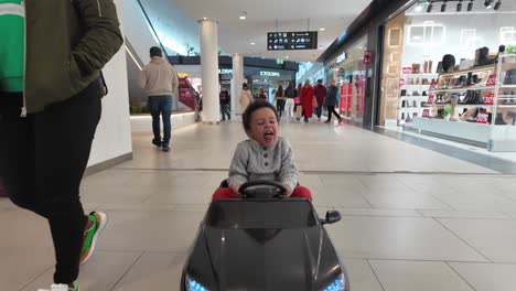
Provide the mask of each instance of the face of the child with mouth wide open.
{"label": "face of the child with mouth wide open", "polygon": [[278,120],[270,108],[260,108],[251,116],[249,138],[264,147],[270,148],[278,140]]}

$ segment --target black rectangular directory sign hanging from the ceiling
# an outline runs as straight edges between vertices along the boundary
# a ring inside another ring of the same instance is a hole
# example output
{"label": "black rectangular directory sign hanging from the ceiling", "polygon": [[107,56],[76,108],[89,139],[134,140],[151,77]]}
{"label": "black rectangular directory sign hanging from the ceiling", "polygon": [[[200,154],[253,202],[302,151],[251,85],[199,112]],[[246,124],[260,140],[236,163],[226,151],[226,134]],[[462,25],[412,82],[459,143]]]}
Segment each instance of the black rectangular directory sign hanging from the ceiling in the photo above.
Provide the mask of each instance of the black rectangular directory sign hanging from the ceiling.
{"label": "black rectangular directory sign hanging from the ceiling", "polygon": [[269,32],[267,33],[268,51],[316,50],[318,32]]}

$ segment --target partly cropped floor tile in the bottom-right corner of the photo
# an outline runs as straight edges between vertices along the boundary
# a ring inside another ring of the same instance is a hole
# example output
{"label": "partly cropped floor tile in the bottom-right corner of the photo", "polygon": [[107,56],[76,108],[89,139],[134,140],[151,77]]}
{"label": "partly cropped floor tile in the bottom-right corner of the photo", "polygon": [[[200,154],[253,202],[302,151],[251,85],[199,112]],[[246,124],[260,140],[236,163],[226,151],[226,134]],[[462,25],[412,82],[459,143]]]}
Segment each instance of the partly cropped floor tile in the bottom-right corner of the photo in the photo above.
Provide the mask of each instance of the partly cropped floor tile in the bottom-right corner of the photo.
{"label": "partly cropped floor tile in the bottom-right corner of the photo", "polygon": [[476,291],[516,290],[516,265],[450,262]]}

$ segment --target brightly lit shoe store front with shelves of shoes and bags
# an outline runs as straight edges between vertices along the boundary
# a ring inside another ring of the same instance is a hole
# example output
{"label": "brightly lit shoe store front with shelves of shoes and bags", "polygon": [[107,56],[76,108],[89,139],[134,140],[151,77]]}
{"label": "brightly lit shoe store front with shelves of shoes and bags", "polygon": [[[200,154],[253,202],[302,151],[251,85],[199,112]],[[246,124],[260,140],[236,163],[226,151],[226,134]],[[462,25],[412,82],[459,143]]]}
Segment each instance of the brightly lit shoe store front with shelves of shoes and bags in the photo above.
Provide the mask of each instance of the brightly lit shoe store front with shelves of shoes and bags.
{"label": "brightly lit shoe store front with shelves of shoes and bags", "polygon": [[384,26],[378,125],[516,151],[515,17],[514,1],[398,11]]}

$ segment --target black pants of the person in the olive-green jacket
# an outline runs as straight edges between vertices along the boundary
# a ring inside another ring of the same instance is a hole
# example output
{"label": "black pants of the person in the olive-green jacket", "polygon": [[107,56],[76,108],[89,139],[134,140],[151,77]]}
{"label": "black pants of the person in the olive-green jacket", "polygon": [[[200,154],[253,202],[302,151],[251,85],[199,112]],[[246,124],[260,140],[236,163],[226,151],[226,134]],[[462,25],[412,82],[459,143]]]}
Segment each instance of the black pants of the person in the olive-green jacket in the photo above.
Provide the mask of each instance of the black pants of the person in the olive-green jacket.
{"label": "black pants of the person in the olive-green jacket", "polygon": [[78,277],[87,223],[79,184],[100,119],[100,95],[94,82],[73,98],[21,118],[21,95],[0,94],[0,176],[14,204],[49,220],[55,283]]}

